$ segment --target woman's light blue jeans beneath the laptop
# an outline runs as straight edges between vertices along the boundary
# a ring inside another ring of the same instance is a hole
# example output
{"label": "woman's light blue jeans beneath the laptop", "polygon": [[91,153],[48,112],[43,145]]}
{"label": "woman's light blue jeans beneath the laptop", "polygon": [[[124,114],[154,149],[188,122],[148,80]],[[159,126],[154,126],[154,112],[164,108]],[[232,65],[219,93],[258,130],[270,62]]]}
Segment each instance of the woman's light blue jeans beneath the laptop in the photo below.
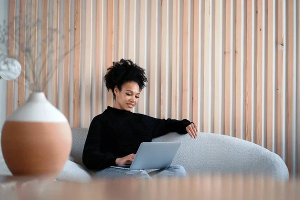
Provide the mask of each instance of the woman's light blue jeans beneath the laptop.
{"label": "woman's light blue jeans beneath the laptop", "polygon": [[[150,174],[153,174],[152,176]],[[169,166],[165,169],[159,169],[156,171],[147,172],[145,170],[128,170],[108,167],[101,171],[95,173],[95,177],[102,178],[124,178],[124,177],[134,177],[134,178],[159,178],[159,177],[185,177],[186,172],[183,166],[174,165]]]}

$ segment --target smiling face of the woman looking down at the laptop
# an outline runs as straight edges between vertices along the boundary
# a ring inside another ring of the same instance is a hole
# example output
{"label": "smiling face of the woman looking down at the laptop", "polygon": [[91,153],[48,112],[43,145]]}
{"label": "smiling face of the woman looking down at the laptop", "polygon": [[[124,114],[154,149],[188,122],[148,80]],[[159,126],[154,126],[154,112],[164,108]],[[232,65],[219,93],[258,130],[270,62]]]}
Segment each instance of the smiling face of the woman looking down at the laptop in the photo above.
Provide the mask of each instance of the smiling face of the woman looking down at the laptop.
{"label": "smiling face of the woman looking down at the laptop", "polygon": [[114,108],[130,111],[137,103],[139,98],[139,86],[136,82],[126,82],[121,90],[114,87],[115,103]]}

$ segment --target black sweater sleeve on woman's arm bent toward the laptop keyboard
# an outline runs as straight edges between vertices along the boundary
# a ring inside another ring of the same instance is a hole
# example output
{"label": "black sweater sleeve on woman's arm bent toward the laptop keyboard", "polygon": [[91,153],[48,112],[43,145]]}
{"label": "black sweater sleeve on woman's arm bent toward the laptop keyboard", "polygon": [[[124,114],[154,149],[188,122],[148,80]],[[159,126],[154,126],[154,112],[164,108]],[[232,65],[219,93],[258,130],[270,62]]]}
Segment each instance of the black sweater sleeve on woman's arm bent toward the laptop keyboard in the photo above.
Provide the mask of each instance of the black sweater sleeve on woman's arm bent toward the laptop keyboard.
{"label": "black sweater sleeve on woman's arm bent toward the laptop keyboard", "polygon": [[89,125],[82,153],[82,162],[90,170],[101,170],[116,165],[115,159],[117,156],[100,150],[101,133],[103,131],[101,121],[97,116],[94,117]]}

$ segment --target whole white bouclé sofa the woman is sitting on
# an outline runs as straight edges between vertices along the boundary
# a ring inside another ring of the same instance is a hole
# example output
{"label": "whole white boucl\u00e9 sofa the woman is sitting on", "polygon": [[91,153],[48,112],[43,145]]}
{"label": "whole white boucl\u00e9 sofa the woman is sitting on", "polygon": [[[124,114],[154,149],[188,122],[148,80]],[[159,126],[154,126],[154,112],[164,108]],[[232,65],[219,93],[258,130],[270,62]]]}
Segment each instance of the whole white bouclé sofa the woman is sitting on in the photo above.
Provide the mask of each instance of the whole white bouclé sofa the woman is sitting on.
{"label": "whole white boucl\u00e9 sofa the woman is sitting on", "polygon": [[[72,128],[72,150],[56,180],[89,181],[92,172],[82,164],[87,128]],[[153,139],[181,141],[172,164],[180,164],[187,175],[204,173],[261,174],[287,180],[288,169],[275,153],[252,142],[226,135],[198,133],[197,139],[175,132]],[[0,151],[0,174],[11,175]]]}

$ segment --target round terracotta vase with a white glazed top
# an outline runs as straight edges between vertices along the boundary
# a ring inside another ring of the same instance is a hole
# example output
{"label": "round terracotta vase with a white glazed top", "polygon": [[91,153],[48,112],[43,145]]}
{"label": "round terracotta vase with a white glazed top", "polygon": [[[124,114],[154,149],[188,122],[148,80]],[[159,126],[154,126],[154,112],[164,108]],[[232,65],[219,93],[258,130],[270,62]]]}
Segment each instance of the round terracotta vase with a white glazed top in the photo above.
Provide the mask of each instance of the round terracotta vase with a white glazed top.
{"label": "round terracotta vase with a white glazed top", "polygon": [[2,128],[2,153],[13,175],[56,177],[71,145],[67,119],[43,92],[31,93]]}

